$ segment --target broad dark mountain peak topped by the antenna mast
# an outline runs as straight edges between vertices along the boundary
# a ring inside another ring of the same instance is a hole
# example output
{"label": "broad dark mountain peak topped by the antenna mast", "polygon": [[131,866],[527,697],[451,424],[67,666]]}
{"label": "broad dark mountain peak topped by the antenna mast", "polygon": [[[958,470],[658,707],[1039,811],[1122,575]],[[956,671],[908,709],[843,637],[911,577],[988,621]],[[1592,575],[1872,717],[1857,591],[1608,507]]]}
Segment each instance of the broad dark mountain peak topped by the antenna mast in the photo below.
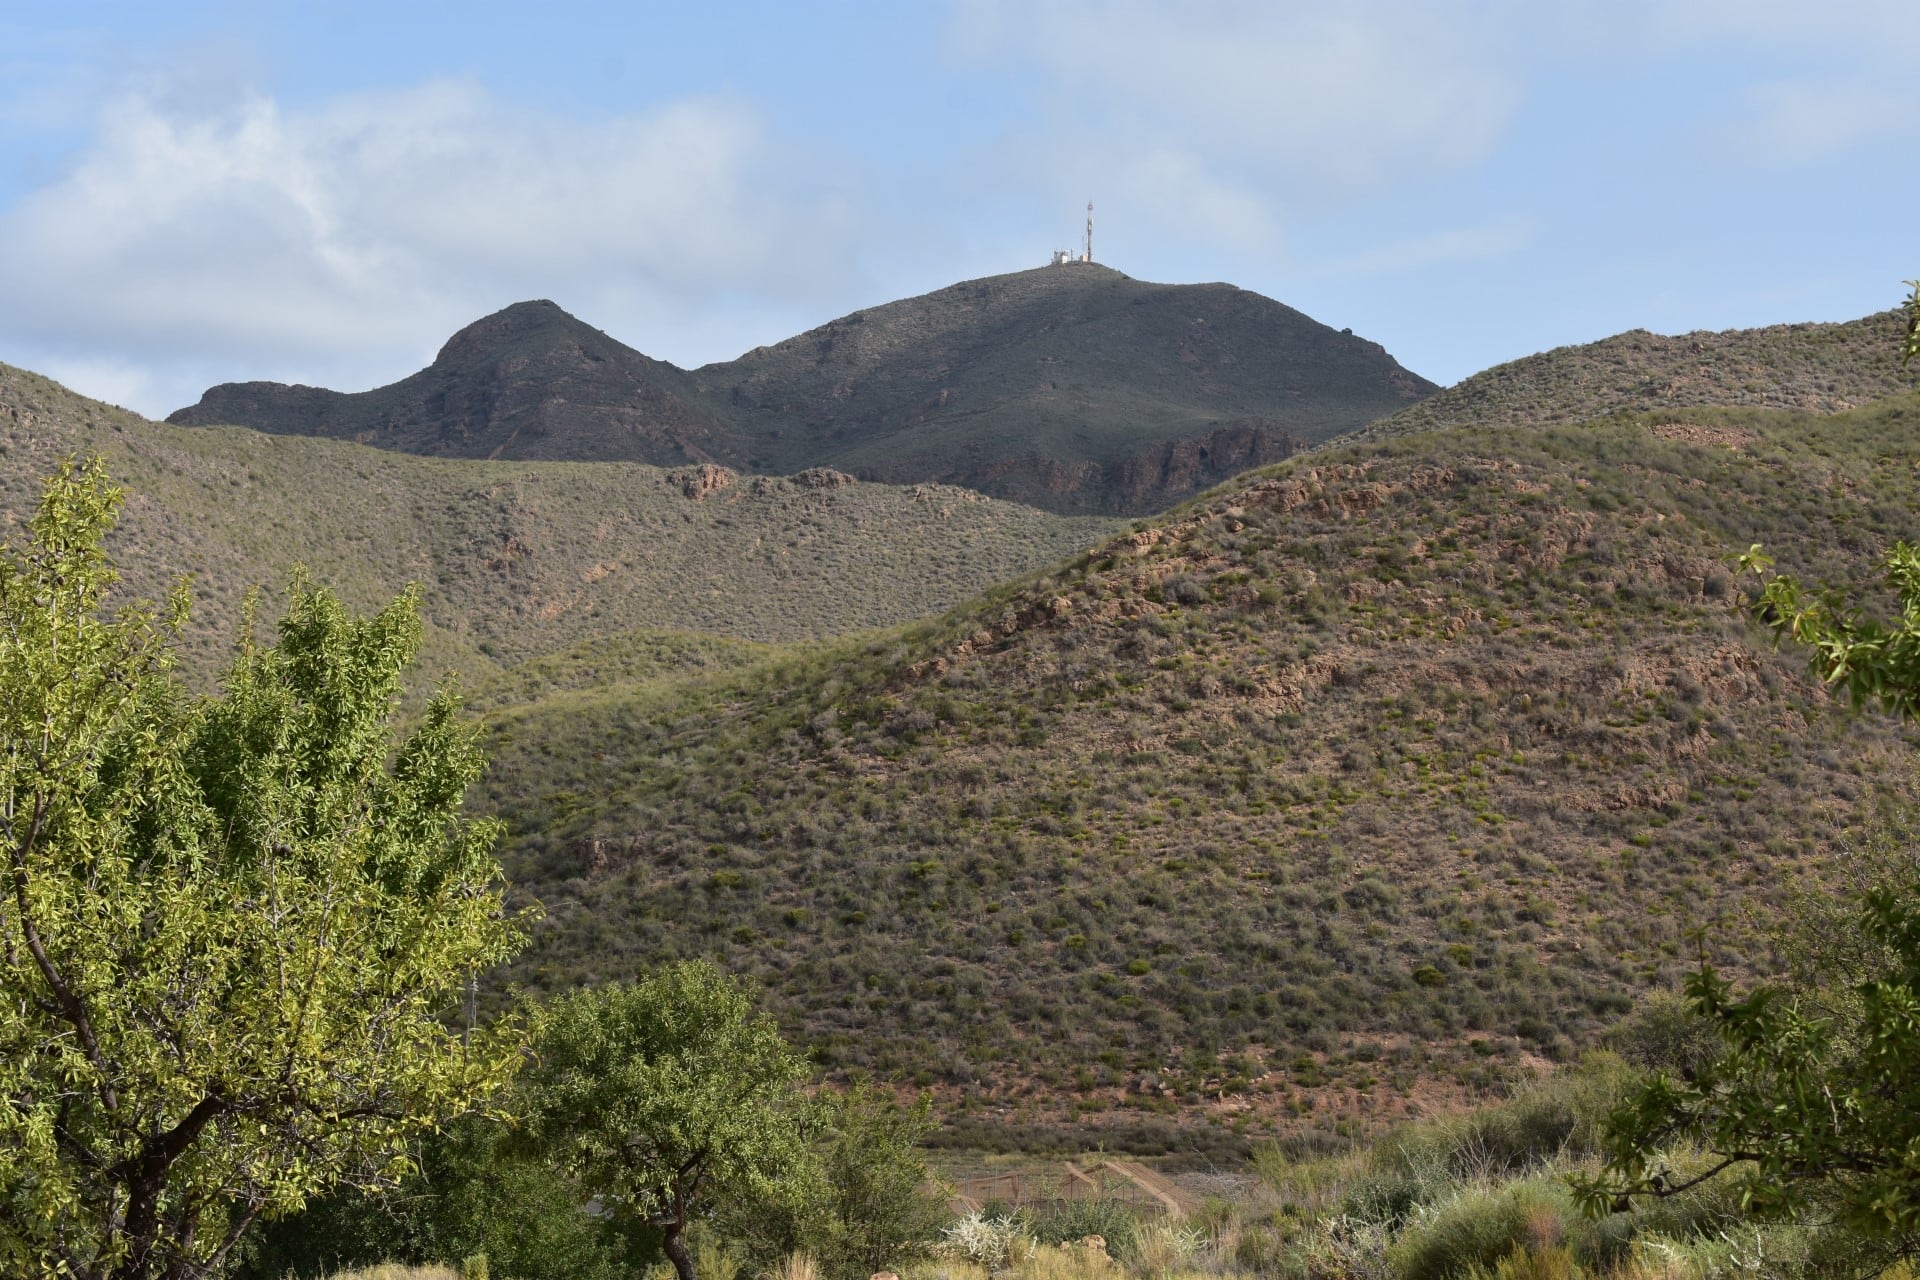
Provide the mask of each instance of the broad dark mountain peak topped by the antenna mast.
{"label": "broad dark mountain peak topped by the antenna mast", "polygon": [[1260,294],[1098,265],[856,311],[693,376],[753,424],[747,466],[1135,514],[1434,391]]}

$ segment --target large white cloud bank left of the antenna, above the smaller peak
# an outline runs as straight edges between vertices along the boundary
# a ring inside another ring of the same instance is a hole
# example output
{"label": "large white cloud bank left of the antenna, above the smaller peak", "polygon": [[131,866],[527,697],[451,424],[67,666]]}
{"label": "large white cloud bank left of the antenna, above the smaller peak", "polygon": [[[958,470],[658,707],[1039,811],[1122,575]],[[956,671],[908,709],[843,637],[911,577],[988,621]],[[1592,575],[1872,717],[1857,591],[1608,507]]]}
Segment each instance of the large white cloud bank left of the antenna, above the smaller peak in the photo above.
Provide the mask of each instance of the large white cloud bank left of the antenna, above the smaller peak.
{"label": "large white cloud bank left of the antenna, above the smaller peak", "polygon": [[708,305],[854,274],[854,201],[816,177],[831,165],[735,104],[582,123],[465,83],[315,111],[159,102],[113,102],[77,163],[0,213],[0,342],[121,368],[102,391],[209,353],[227,376],[388,378],[522,297],[710,359],[733,351],[674,349],[714,338]]}

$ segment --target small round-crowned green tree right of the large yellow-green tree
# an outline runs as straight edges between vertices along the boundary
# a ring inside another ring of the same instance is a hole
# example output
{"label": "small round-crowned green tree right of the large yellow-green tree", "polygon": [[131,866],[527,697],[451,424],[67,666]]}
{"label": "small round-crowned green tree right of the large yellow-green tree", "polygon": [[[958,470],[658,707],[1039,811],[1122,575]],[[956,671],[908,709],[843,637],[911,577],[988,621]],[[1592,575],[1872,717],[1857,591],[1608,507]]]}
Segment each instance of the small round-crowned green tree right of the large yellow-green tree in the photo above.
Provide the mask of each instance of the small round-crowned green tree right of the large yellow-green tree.
{"label": "small round-crowned green tree right of the large yellow-green tree", "polygon": [[707,961],[557,998],[536,1059],[530,1136],[609,1213],[659,1226],[680,1280],[695,1280],[689,1222],[720,1199],[780,1201],[812,1173],[806,1063]]}

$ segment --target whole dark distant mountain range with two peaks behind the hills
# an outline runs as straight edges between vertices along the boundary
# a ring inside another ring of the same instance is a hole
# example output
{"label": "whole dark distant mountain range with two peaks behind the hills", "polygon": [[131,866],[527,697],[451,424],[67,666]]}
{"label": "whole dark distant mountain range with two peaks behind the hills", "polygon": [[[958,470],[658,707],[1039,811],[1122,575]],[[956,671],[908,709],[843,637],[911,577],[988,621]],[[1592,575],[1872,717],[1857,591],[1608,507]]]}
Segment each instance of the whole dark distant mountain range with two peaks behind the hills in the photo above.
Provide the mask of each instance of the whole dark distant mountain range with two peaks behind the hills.
{"label": "whole dark distant mountain range with two peaks behind the hills", "polygon": [[693,372],[516,303],[403,382],[225,384],[167,420],[436,457],[831,466],[1142,514],[1430,391],[1379,344],[1258,294],[1083,263],[856,311]]}

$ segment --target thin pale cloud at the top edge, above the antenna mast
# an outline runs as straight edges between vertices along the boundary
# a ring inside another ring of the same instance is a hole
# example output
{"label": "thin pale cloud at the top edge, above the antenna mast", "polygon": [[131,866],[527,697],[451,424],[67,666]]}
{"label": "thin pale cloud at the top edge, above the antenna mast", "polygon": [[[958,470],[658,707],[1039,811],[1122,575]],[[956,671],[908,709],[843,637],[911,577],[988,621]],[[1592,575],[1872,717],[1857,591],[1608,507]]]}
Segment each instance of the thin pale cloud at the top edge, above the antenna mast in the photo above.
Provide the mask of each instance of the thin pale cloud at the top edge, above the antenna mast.
{"label": "thin pale cloud at the top edge, above the antenna mast", "polygon": [[954,25],[1041,73],[1046,117],[1012,140],[1029,175],[1137,175],[1162,223],[1233,248],[1484,157],[1519,102],[1496,33],[1409,0],[970,0]]}

